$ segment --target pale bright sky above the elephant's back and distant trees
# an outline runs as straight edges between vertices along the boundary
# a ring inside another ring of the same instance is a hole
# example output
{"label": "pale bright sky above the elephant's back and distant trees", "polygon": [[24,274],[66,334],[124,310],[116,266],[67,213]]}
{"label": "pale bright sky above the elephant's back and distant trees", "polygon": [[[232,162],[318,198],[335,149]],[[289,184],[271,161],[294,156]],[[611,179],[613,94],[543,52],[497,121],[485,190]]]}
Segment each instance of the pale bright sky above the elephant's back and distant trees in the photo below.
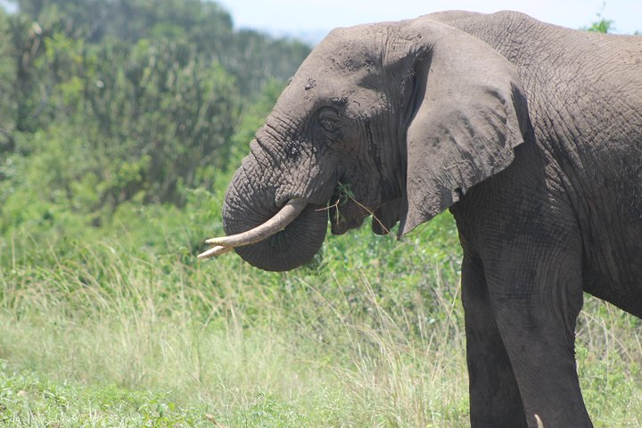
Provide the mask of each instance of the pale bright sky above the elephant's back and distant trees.
{"label": "pale bright sky above the elephant's back and distant trees", "polygon": [[[431,12],[515,10],[572,29],[613,22],[615,33],[642,32],[642,0],[218,0],[235,27],[318,41],[336,27],[399,21]],[[392,4],[392,5],[391,5]]]}

